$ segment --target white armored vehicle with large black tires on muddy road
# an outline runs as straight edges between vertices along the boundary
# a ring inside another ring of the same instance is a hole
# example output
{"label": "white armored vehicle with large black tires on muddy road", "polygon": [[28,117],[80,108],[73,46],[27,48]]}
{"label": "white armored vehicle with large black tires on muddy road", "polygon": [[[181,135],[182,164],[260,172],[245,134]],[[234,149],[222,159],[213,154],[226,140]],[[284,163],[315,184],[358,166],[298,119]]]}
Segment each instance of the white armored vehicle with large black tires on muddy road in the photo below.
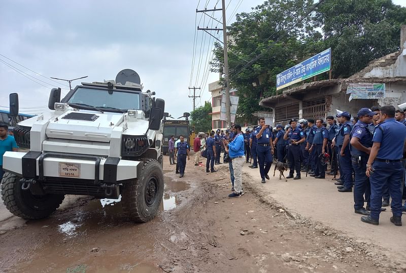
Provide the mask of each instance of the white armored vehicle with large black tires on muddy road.
{"label": "white armored vehicle with large black tires on muddy road", "polygon": [[[82,83],[60,101],[52,89],[48,113],[20,122],[14,137],[28,152],[6,152],[1,182],[7,209],[26,219],[44,218],[65,194],[118,199],[136,222],[152,219],[163,195],[164,101],[143,92],[137,72],[116,81]],[[18,95],[10,94],[10,113]]]}

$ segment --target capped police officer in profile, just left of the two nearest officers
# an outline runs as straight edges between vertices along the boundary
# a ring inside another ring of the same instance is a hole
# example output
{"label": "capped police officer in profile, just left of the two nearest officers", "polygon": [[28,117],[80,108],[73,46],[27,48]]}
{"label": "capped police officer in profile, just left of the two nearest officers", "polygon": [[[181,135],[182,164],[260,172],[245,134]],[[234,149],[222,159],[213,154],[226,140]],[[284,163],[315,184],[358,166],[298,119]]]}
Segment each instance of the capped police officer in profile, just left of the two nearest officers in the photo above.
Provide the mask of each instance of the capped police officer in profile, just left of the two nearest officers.
{"label": "capped police officer in profile, just left of the two nearest officers", "polygon": [[351,114],[349,112],[342,112],[337,114],[342,126],[335,137],[335,142],[339,146],[337,152],[339,153],[339,161],[341,172],[343,173],[344,184],[338,186],[340,192],[352,191],[352,166],[351,166],[351,153],[350,153],[350,133],[353,124],[350,122]]}

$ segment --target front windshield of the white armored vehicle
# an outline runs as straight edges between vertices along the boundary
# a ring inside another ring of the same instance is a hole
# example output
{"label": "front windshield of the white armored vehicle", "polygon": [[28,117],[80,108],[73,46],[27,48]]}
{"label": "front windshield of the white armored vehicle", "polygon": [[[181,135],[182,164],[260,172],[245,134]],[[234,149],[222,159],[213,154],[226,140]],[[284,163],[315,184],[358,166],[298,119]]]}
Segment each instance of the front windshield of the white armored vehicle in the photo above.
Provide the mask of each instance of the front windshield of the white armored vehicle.
{"label": "front windshield of the white armored vehicle", "polygon": [[110,93],[108,90],[78,88],[67,102],[84,103],[96,107],[114,107],[123,110],[140,110],[140,93],[116,90]]}

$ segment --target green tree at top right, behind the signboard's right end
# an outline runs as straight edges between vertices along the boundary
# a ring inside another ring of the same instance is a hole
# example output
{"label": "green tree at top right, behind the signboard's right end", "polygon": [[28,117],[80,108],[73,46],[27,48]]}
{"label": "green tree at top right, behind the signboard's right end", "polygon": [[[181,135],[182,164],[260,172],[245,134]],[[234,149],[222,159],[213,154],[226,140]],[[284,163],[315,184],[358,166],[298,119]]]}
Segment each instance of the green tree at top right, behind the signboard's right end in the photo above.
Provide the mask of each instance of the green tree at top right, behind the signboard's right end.
{"label": "green tree at top right, behind the signboard's right end", "polygon": [[316,11],[333,77],[349,77],[374,59],[399,50],[406,8],[391,0],[326,0]]}

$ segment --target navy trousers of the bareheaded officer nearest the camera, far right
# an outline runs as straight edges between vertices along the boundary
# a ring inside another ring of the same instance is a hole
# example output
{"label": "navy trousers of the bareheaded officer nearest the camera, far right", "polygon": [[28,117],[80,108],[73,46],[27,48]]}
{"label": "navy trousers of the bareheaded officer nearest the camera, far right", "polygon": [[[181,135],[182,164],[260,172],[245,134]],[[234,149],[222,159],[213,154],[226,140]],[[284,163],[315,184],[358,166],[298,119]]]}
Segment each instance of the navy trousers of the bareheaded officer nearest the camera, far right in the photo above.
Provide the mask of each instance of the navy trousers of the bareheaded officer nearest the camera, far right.
{"label": "navy trousers of the bareheaded officer nearest the camera, far right", "polygon": [[403,166],[401,162],[377,162],[372,165],[375,171],[369,178],[371,184],[371,218],[378,220],[381,213],[383,188],[389,187],[392,197],[390,207],[393,216],[402,216]]}

